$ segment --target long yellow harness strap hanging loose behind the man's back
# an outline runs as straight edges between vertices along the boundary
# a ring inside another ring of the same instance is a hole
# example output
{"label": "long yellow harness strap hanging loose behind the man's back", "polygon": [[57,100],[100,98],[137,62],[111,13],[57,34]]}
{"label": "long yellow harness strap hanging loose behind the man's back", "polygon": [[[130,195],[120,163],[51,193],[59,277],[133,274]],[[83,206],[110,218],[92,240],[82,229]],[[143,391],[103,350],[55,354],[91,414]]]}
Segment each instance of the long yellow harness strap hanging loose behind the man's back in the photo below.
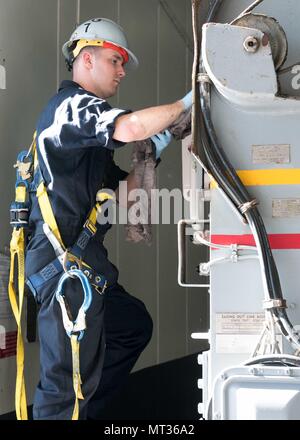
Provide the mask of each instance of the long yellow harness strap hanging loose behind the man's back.
{"label": "long yellow harness strap hanging loose behind the man's back", "polygon": [[[24,258],[24,230],[23,228],[14,228],[12,239],[10,242],[10,274],[8,284],[8,294],[12,307],[12,311],[18,326],[17,336],[17,380],[15,392],[15,406],[18,420],[27,420],[27,401],[24,381],[24,342],[22,338],[22,309],[24,300],[25,286],[25,258]],[[16,289],[14,285],[15,277],[15,261],[18,263],[18,291],[19,300],[17,299]]]}

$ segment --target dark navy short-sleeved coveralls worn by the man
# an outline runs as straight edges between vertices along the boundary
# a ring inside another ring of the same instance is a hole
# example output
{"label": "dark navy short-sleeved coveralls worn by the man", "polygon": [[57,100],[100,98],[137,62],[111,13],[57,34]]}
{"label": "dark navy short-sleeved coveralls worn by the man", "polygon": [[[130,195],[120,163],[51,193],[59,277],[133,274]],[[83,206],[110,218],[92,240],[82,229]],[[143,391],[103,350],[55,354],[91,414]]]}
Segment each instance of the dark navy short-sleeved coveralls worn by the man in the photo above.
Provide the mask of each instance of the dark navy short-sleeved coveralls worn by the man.
{"label": "dark navy short-sleeved coveralls worn by the man", "polygon": [[[124,144],[112,136],[124,110],[109,104],[72,81],[63,81],[37,124],[39,165],[65,246],[72,246],[101,188],[115,190],[127,173],[113,160]],[[31,195],[31,237],[26,249],[26,274],[41,271],[55,259],[43,233],[36,195]],[[84,251],[83,261],[108,281],[104,295],[93,289],[80,343],[84,400],[80,418],[100,418],[106,403],[126,380],[152,335],[152,320],[144,304],[118,284],[118,271],[103,246],[110,225],[100,225]],[[71,419],[75,394],[70,339],[63,326],[55,291],[60,275],[33,291],[39,304],[40,382],[34,399],[35,419]],[[133,273],[134,276],[134,273]],[[79,280],[68,279],[64,295],[73,319],[83,301]]]}

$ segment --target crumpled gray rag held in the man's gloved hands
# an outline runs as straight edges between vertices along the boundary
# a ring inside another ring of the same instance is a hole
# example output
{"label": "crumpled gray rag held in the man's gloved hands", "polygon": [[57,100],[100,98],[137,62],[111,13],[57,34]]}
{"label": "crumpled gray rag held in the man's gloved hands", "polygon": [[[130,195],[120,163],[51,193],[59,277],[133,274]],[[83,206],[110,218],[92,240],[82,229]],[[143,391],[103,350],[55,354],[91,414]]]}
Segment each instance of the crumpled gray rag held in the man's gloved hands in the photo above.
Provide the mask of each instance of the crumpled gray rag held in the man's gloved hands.
{"label": "crumpled gray rag held in the man's gloved hands", "polygon": [[[182,140],[191,133],[191,110],[183,112],[179,118],[168,127],[176,140]],[[151,139],[134,142],[132,165],[137,188],[142,188],[147,195],[146,200],[139,200],[136,214],[142,219],[138,224],[130,223],[130,209],[126,229],[126,240],[138,243],[152,243],[151,225],[151,190],[156,189],[156,151]],[[133,209],[133,207],[132,207]]]}

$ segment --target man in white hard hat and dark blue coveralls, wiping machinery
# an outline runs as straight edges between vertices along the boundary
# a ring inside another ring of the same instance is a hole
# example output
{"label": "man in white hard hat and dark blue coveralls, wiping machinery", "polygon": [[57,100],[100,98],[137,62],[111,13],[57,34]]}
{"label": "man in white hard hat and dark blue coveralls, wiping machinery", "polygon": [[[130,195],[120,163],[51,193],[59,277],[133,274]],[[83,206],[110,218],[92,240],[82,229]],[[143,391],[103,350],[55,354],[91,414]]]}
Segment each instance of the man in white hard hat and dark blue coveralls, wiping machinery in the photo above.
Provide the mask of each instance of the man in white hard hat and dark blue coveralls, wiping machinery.
{"label": "man in white hard hat and dark blue coveralls, wiping machinery", "polygon": [[[106,99],[116,94],[125,68],[136,67],[138,61],[123,30],[107,19],[80,25],[63,46],[63,54],[73,69],[73,81],[63,81],[42,112],[37,124],[37,153],[58,229],[65,246],[70,247],[99,189],[115,191],[125,179],[128,190],[136,187],[133,173],[115,164],[114,150],[165,130],[191,106],[191,93],[175,103],[133,113],[111,108]],[[158,153],[168,143],[162,136],[153,140]],[[55,259],[35,194],[31,199],[28,277]],[[144,304],[118,284],[118,271],[107,258],[103,240],[109,227],[99,225],[83,255],[83,261],[102,274],[108,286],[103,295],[93,289],[87,329],[80,343],[81,419],[101,417],[106,402],[124,383],[152,334],[152,320]],[[60,276],[33,292],[40,306],[41,366],[35,419],[71,419],[74,408],[71,344],[55,298]],[[76,316],[82,303],[80,282],[70,279],[64,295]]]}

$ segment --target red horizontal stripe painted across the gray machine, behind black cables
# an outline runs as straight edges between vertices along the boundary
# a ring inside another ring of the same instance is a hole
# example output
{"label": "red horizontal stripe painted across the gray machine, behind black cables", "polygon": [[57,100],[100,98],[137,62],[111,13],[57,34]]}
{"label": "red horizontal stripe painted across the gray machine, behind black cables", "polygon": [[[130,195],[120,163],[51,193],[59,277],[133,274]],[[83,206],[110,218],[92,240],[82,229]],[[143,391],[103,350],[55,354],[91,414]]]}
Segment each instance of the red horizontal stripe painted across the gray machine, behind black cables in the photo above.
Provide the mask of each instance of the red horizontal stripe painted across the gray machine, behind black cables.
{"label": "red horizontal stripe painted across the gray machine, behind black cables", "polygon": [[[268,234],[272,249],[300,249],[300,234]],[[215,244],[244,244],[255,246],[253,235],[211,235]]]}

